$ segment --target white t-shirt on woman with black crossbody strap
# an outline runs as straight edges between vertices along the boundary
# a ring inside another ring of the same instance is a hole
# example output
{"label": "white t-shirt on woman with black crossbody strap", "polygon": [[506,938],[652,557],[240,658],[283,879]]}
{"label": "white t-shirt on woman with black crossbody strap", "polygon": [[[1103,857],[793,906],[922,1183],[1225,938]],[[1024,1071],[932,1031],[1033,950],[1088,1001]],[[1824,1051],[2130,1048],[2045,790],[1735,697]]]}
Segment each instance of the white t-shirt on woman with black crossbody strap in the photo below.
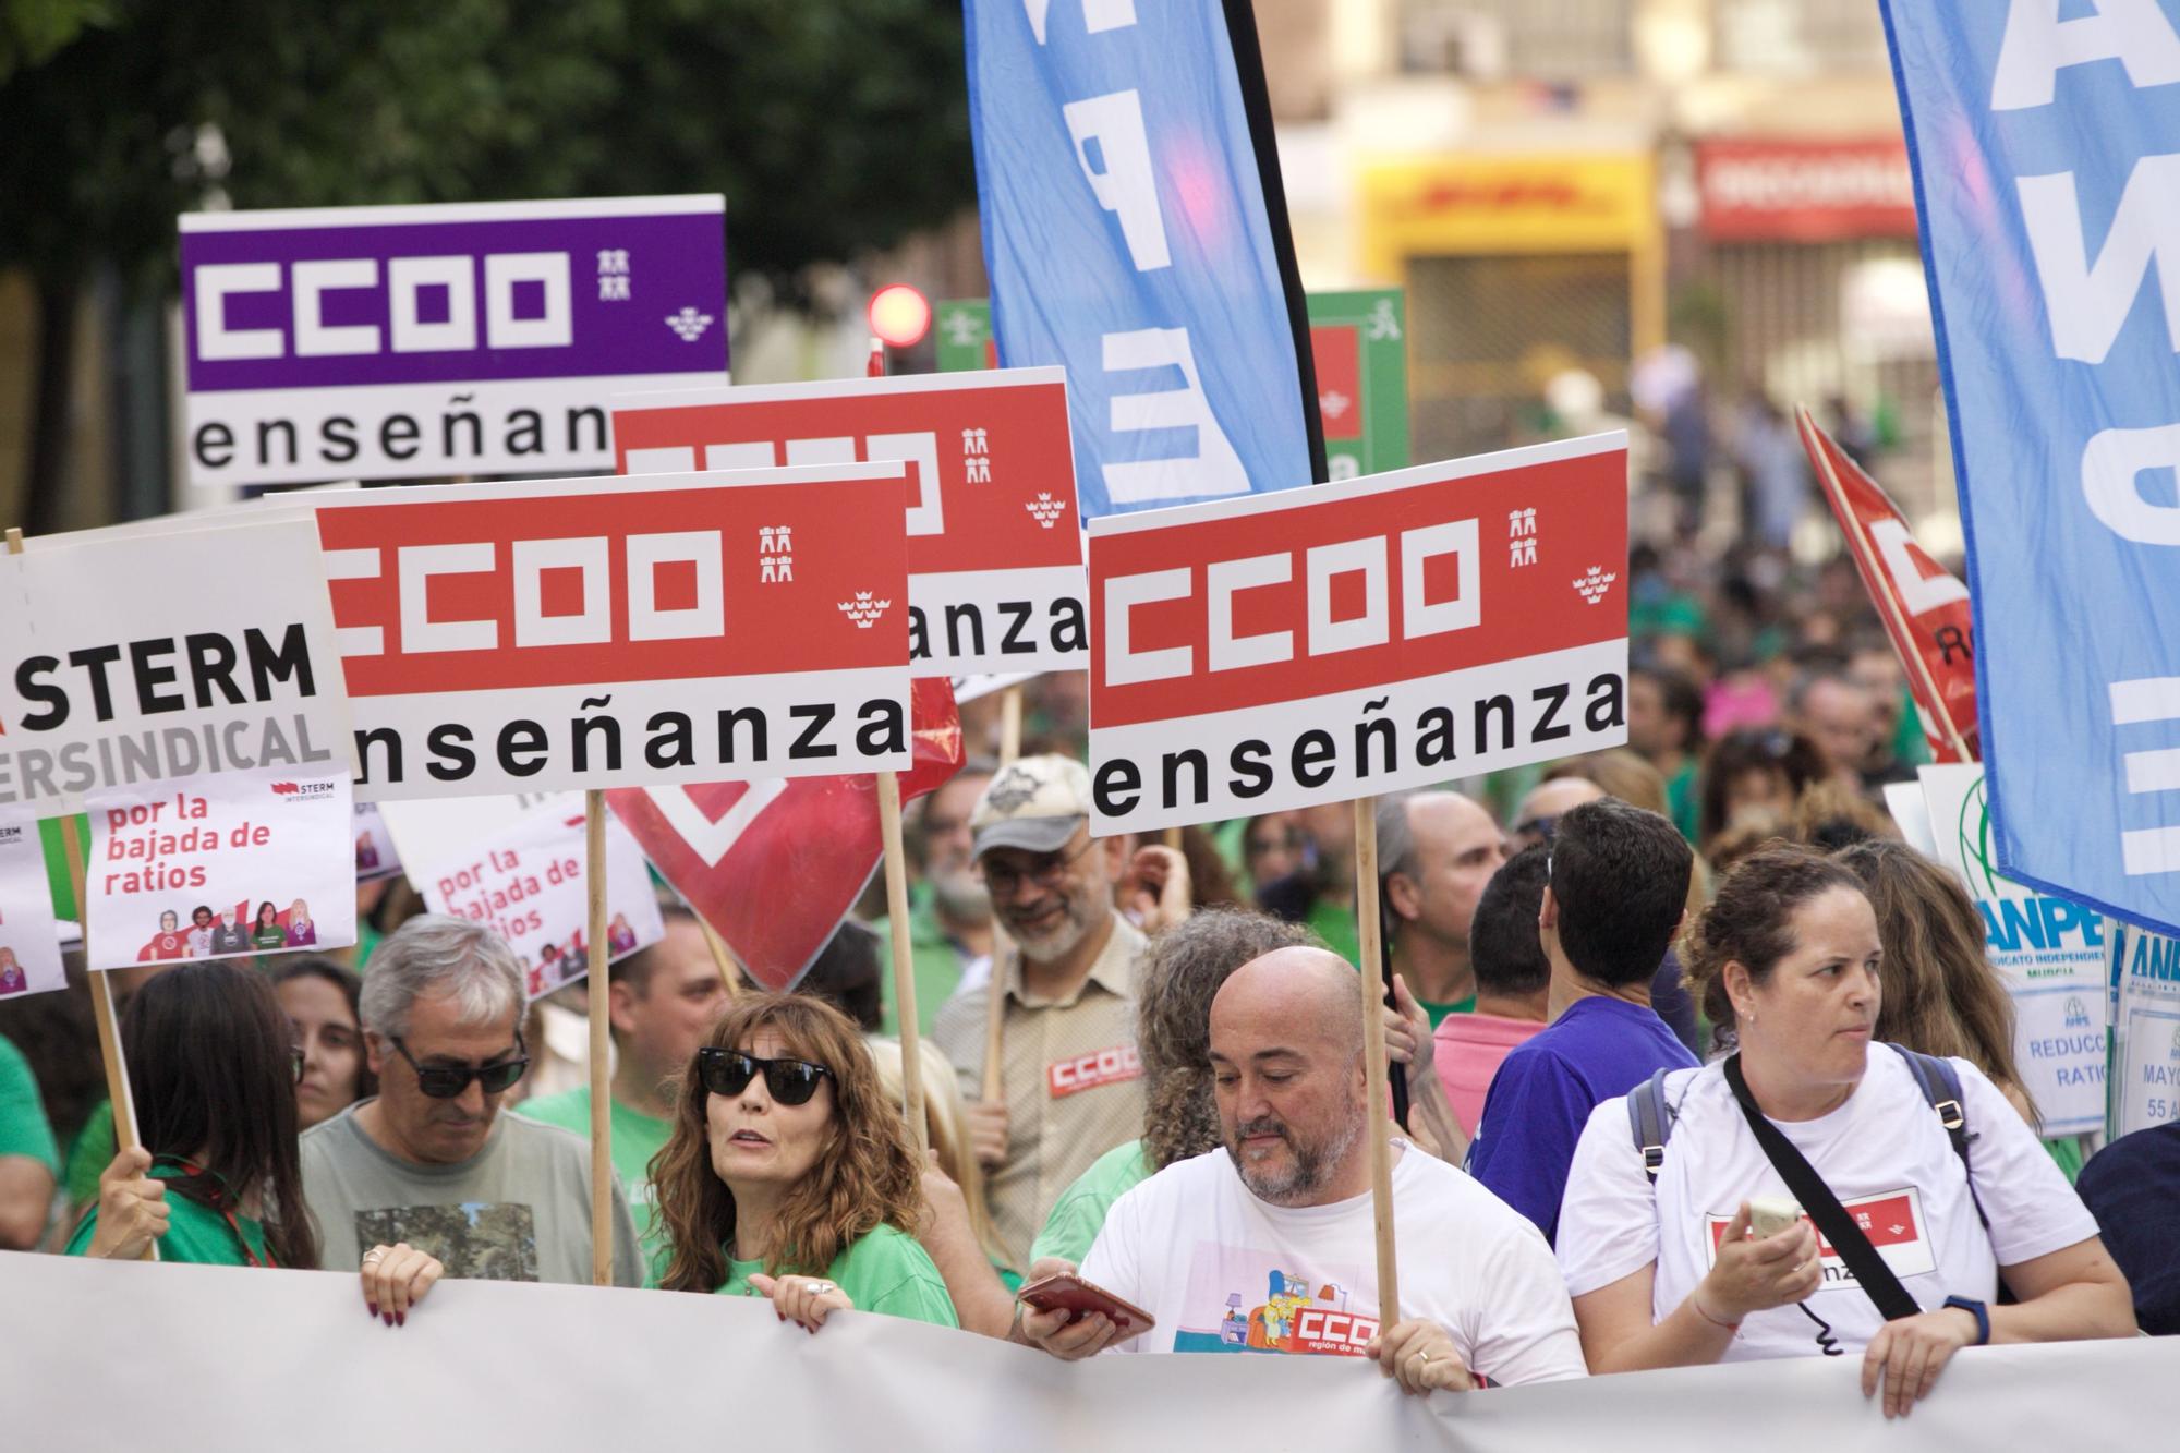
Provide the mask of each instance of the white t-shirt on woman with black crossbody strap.
{"label": "white t-shirt on woman with black crossbody strap", "polygon": [[[1931,1311],[1947,1296],[1997,1298],[1999,1265],[2014,1265],[2097,1235],[2097,1222],[2021,1115],[1975,1065],[1951,1060],[1966,1113],[1969,1163],[1990,1217],[1986,1233],[1969,1178],[1938,1113],[1908,1062],[1870,1045],[1862,1084],[1831,1115],[1772,1121],[1857,1217],[1908,1294]],[[1720,1065],[1666,1076],[1679,1124],[1657,1187],[1644,1176],[1626,1097],[1589,1115],[1559,1209],[1559,1265],[1585,1296],[1657,1263],[1650,1316],[1666,1320],[1711,1270],[1718,1237],[1755,1196],[1792,1200],[1742,1117]],[[1729,1361],[1805,1357],[1829,1333],[1860,1353],[1884,1326],[1877,1305],[1822,1246],[1825,1285],[1803,1307],[1757,1311],[1727,1344]],[[1822,1326],[1818,1326],[1822,1320]]]}

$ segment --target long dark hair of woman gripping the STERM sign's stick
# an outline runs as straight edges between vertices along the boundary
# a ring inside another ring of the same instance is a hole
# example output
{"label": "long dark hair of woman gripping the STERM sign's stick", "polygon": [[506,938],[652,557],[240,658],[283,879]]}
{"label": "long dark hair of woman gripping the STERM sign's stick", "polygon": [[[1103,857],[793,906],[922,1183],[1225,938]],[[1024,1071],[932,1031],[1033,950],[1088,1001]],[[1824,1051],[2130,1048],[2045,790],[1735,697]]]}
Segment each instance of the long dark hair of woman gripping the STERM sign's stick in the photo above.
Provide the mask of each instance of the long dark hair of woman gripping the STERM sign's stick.
{"label": "long dark hair of woman gripping the STERM sign's stick", "polygon": [[218,960],[146,980],[122,1012],[144,1150],[203,1172],[168,1189],[214,1209],[240,1211],[255,1198],[272,1259],[314,1272],[290,1038],[272,986]]}

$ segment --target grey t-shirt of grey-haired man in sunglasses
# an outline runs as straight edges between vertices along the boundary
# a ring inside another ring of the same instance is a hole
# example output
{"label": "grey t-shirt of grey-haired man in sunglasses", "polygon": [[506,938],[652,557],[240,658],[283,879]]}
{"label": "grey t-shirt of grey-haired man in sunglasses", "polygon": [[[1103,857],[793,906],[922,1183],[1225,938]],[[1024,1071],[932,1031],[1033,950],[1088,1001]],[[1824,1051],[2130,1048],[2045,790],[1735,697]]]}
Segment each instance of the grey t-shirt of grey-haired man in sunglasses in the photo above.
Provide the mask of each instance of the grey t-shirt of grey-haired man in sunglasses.
{"label": "grey t-shirt of grey-haired man in sunglasses", "polygon": [[[347,1110],[303,1132],[303,1200],[325,1241],[320,1265],[353,1272],[373,1246],[408,1241],[447,1276],[591,1285],[591,1145],[501,1113],[473,1158],[414,1165],[390,1156]],[[613,1178],[613,1285],[643,1285],[637,1224]]]}

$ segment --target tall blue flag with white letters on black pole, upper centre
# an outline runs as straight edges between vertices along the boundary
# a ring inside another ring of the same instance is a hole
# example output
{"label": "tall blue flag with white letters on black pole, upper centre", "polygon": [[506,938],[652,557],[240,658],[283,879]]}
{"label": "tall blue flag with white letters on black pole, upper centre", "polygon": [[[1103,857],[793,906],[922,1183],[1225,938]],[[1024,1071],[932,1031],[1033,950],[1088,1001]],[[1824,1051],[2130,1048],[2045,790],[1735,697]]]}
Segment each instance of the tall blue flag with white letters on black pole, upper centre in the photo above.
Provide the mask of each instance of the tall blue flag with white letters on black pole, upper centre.
{"label": "tall blue flag with white letters on black pole, upper centre", "polygon": [[998,362],[1066,367],[1086,519],[1315,478],[1269,105],[1251,137],[1225,9],[964,9]]}

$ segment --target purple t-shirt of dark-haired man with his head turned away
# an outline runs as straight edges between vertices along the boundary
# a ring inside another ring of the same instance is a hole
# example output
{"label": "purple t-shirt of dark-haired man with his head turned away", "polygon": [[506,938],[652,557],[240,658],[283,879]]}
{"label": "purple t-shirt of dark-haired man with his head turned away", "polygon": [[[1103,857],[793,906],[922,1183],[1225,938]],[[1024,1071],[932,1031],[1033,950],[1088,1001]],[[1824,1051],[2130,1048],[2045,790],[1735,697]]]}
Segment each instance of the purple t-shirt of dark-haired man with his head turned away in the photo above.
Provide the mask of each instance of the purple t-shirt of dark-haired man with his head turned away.
{"label": "purple t-shirt of dark-haired man with his head turned away", "polygon": [[1515,1045],[1491,1078],[1469,1174],[1552,1241],[1567,1165],[1589,1113],[1659,1069],[1696,1069],[1696,1056],[1663,1019],[1626,999],[1576,999],[1535,1038]]}

